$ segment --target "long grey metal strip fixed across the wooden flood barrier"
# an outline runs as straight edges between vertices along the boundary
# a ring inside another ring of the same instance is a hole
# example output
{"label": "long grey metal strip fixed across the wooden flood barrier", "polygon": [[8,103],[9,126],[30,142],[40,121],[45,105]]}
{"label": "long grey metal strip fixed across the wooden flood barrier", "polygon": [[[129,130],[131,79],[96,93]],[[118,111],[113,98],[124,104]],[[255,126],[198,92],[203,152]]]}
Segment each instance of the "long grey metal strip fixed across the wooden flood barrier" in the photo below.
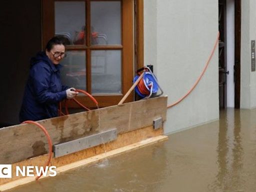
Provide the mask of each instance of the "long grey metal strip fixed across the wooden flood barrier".
{"label": "long grey metal strip fixed across the wooden flood barrier", "polygon": [[53,146],[54,157],[63,156],[85,148],[103,144],[117,138],[116,128],[85,136],[75,140],[70,140]]}

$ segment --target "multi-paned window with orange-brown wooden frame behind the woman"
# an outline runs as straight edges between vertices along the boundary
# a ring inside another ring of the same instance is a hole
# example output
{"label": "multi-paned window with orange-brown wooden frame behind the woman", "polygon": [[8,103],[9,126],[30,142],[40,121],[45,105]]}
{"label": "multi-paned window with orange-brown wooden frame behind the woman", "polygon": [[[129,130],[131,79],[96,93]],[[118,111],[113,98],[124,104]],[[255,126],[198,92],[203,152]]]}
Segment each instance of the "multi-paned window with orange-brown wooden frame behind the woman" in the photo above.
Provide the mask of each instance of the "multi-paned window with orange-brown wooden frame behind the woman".
{"label": "multi-paned window with orange-brown wooden frame behind the woman", "polygon": [[[100,106],[117,104],[132,85],[133,0],[42,2],[43,47],[54,35],[67,43],[62,83],[91,93]],[[78,100],[91,103],[83,95]]]}

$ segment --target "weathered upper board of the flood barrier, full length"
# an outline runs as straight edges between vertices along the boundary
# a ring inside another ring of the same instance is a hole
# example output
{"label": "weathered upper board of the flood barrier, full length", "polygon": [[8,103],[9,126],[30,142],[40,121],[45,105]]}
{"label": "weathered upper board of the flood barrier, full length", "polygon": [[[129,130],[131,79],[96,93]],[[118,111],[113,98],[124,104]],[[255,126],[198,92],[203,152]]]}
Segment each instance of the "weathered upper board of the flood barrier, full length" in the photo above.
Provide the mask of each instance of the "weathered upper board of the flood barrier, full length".
{"label": "weathered upper board of the flood barrier, full length", "polygon": [[[166,119],[167,97],[150,98],[38,121],[53,144],[116,128],[124,133],[151,126],[153,119]],[[10,164],[47,153],[43,132],[31,124],[0,129],[0,164]]]}

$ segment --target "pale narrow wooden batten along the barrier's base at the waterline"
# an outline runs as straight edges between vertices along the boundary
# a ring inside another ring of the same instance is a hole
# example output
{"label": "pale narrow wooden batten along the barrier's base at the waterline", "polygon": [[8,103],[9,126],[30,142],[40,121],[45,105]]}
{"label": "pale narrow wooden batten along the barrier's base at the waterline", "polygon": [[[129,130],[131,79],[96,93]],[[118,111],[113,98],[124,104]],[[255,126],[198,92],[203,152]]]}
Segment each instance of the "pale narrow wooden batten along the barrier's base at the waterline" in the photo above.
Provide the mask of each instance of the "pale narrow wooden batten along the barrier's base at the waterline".
{"label": "pale narrow wooden batten along the barrier's base at the waterline", "polygon": [[[86,159],[83,159],[83,160],[80,160],[80,161],[76,161],[76,162],[73,162],[73,163],[70,163],[70,164],[67,164],[67,165],[60,166],[60,167],[56,168],[56,171],[57,171],[57,174],[59,174],[59,173],[62,173],[64,171],[67,171],[67,170],[70,170],[70,169],[73,169],[73,168],[77,168],[79,166],[89,165],[91,163],[98,162],[102,159],[105,159],[105,158],[108,158],[108,157],[111,157],[111,156],[115,156],[117,154],[121,154],[121,153],[124,153],[124,152],[128,152],[128,151],[131,151],[131,150],[135,150],[137,148],[141,148],[141,147],[147,146],[149,144],[157,143],[157,142],[164,141],[164,140],[167,140],[167,139],[168,139],[168,137],[164,136],[164,135],[159,135],[159,136],[156,136],[156,137],[148,138],[148,139],[142,140],[140,142],[136,142],[136,143],[133,143],[133,144],[130,144],[130,145],[118,148],[118,149],[114,149],[114,150],[111,150],[111,151],[108,151],[108,152],[105,152],[105,153],[98,154],[98,155],[93,156],[93,157],[89,157],[89,158],[86,158]],[[41,176],[39,179],[42,179],[42,178],[45,178],[45,177],[48,177],[48,176],[49,175]],[[22,179],[18,179],[18,180],[0,185],[0,191],[4,191],[4,190],[14,188],[14,187],[19,186],[19,185],[23,185],[23,184],[32,182],[32,181],[35,180],[35,177],[36,176],[34,176],[34,177],[25,177],[25,178],[22,178]]]}

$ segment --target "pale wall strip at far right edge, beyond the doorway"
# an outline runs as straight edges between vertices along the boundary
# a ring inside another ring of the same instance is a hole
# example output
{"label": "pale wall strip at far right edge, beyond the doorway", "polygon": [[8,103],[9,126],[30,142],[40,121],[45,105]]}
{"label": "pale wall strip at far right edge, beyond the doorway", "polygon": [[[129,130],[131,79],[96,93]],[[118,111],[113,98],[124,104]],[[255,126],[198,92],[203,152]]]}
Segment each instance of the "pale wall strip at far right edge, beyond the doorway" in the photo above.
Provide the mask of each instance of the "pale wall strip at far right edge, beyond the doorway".
{"label": "pale wall strip at far right edge, beyond the doorway", "polygon": [[251,71],[250,59],[250,41],[256,40],[255,1],[241,1],[241,108],[256,107],[256,71]]}

